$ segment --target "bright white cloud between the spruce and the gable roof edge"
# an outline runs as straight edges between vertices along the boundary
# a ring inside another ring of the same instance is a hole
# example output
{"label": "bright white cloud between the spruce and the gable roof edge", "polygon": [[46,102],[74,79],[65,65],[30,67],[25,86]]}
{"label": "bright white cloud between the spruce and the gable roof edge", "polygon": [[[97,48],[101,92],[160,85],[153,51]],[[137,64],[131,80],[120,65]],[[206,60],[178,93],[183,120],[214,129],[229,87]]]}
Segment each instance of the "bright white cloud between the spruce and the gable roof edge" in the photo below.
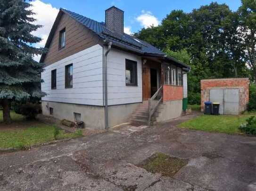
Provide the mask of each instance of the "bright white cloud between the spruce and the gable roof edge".
{"label": "bright white cloud between the spruce and the gable roof edge", "polygon": [[[58,8],[53,8],[50,3],[47,4],[41,0],[34,0],[30,4],[32,5],[30,9],[35,13],[33,18],[36,19],[33,24],[42,25],[41,28],[33,32],[33,35],[42,38],[41,42],[35,46],[44,47],[59,10]],[[35,56],[34,60],[39,61],[40,57],[40,55]]]}

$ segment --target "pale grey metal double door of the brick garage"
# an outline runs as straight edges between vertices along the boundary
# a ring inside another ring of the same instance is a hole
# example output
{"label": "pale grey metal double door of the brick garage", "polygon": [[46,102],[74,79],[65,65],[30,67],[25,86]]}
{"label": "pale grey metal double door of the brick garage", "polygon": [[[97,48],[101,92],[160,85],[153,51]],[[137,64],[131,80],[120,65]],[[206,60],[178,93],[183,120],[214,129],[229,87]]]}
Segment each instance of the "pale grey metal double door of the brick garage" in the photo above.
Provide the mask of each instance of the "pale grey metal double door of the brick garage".
{"label": "pale grey metal double door of the brick garage", "polygon": [[220,103],[220,114],[239,114],[239,89],[212,89],[210,101]]}

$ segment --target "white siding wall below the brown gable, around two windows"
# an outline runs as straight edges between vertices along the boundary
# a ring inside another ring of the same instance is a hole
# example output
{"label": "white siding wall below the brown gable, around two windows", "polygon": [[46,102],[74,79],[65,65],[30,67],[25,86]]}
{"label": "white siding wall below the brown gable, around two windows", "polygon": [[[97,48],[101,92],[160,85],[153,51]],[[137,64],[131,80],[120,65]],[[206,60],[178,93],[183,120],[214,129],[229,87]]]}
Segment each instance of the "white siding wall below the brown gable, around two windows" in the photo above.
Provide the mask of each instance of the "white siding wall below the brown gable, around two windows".
{"label": "white siding wall below the brown gable, around two windows", "polygon": [[[41,90],[43,101],[103,105],[103,48],[95,45],[45,68]],[[73,63],[73,88],[65,89],[65,66]],[[57,69],[57,89],[51,90],[51,70]],[[111,70],[110,70],[111,71]]]}

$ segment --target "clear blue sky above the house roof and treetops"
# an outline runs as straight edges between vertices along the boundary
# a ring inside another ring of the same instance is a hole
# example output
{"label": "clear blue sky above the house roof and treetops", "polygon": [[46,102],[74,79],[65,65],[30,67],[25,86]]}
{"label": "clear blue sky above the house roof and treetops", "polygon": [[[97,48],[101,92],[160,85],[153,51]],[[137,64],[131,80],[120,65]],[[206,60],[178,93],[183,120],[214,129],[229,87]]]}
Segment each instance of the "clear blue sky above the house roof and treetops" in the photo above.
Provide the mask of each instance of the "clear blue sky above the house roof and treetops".
{"label": "clear blue sky above the house roof and treetops", "polygon": [[[142,27],[136,18],[142,14],[142,10],[150,12],[158,21],[161,21],[173,9],[182,9],[190,12],[194,8],[206,5],[212,0],[42,0],[50,3],[55,8],[66,8],[87,16],[97,21],[104,21],[104,10],[112,5],[124,10],[125,26],[131,27],[131,31],[138,31]],[[232,10],[237,10],[240,0],[215,0],[218,3],[226,3]]]}

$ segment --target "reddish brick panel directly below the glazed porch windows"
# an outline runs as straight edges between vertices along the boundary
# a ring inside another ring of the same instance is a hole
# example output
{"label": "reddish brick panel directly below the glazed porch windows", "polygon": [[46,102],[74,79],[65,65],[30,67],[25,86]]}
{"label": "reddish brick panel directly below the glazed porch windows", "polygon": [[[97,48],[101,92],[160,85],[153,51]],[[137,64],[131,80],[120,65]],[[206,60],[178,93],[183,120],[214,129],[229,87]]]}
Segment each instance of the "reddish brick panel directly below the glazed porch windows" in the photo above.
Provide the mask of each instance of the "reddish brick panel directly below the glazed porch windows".
{"label": "reddish brick panel directly below the glazed porch windows", "polygon": [[164,85],[163,86],[163,101],[173,101],[183,99],[183,87]]}

